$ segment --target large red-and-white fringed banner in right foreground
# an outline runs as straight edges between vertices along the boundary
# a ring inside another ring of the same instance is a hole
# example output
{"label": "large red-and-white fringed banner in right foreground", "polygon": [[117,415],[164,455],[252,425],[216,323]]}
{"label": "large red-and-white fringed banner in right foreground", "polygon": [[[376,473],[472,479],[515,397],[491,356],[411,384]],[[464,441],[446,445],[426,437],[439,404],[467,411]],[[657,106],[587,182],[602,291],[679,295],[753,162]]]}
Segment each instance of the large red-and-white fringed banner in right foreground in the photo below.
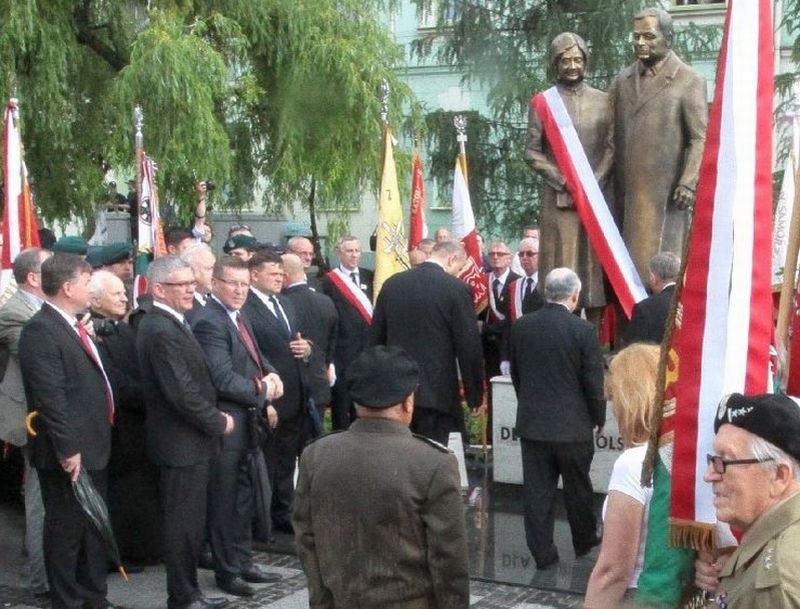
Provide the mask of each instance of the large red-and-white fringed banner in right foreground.
{"label": "large red-and-white fringed banner in right foreground", "polygon": [[771,389],[772,36],[770,0],[729,0],[661,429],[674,431],[670,536],[694,547],[713,535],[717,406]]}

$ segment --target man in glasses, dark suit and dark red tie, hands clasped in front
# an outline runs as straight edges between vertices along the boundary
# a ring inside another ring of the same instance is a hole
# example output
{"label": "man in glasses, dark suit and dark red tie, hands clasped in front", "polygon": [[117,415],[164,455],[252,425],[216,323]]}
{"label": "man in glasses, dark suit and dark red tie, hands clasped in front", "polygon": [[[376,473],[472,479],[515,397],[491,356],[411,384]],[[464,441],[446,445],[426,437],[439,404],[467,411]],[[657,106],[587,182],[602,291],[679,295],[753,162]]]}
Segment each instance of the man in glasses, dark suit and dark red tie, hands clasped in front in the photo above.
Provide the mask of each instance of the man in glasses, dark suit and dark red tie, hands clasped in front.
{"label": "man in glasses, dark suit and dark red tie, hands clasped in front", "polygon": [[268,583],[280,577],[253,564],[250,547],[255,497],[251,484],[240,475],[242,463],[258,446],[258,417],[272,427],[278,415],[269,401],[281,396],[283,386],[275,369],[264,361],[253,330],[241,308],[250,286],[247,263],[225,256],[214,265],[212,294],[195,319],[192,330],[206,354],[217,407],[233,417],[234,432],[222,440],[222,450],[211,460],[208,494],[208,530],[217,585],[235,596],[253,596],[249,583]]}

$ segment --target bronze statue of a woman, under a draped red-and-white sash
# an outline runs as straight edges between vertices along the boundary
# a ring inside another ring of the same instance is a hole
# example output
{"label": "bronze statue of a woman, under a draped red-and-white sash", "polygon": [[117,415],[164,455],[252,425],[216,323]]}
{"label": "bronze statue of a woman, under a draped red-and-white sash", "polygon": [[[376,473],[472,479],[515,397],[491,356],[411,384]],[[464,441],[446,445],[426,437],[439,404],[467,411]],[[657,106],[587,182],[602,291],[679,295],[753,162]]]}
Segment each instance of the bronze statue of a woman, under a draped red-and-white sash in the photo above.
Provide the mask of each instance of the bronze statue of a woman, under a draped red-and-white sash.
{"label": "bronze statue of a woman, under a draped red-and-white sash", "polygon": [[[555,74],[556,88],[602,187],[611,169],[612,155],[606,145],[611,111],[608,96],[583,80],[587,59],[586,43],[577,34],[561,33],[550,44],[550,65]],[[539,190],[539,277],[545,277],[558,267],[574,270],[583,284],[578,306],[585,308],[590,321],[599,322],[606,304],[603,272],[532,104],[528,114],[525,160],[542,178]]]}

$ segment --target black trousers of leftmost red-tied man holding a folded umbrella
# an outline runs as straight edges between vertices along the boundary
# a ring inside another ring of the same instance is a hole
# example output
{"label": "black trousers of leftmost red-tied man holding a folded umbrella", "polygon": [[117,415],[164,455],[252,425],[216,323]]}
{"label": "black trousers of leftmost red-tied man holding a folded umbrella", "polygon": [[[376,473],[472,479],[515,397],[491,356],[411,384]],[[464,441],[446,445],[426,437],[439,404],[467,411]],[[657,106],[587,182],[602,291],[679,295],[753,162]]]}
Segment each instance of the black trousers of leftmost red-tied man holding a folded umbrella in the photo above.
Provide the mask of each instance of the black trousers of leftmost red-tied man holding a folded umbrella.
{"label": "black trousers of leftmost red-tied man holding a folded umbrella", "polygon": [[[44,564],[53,609],[106,607],[108,554],[62,470],[37,470],[44,503]],[[106,497],[106,470],[88,472]]]}

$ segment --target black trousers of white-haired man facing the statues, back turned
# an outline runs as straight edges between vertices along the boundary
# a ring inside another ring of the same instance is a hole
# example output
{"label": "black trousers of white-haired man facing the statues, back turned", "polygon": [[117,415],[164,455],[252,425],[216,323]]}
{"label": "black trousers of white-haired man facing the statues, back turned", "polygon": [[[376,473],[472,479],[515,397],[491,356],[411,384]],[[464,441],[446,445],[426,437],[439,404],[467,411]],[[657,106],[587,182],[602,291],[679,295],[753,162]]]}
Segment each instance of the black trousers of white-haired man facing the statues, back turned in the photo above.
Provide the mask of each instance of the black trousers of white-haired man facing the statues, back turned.
{"label": "black trousers of white-haired man facing the statues, back turned", "polygon": [[564,483],[564,506],[572,545],[577,549],[590,547],[597,535],[589,479],[594,442],[539,442],[520,438],[520,445],[525,538],[534,560],[548,562],[556,552],[553,527],[559,475]]}

